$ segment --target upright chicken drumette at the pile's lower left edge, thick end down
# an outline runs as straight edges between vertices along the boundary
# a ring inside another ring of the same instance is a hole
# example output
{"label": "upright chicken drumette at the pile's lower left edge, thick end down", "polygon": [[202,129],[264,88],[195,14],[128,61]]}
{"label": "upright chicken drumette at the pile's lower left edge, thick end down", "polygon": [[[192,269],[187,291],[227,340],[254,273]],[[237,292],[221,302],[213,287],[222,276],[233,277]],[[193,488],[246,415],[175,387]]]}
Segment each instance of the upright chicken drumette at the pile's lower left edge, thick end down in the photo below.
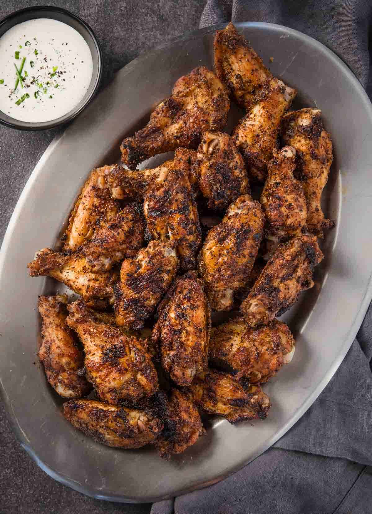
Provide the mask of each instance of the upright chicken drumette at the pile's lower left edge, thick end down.
{"label": "upright chicken drumette at the pile's lower left edge, thick end down", "polygon": [[91,384],[82,374],[84,355],[75,334],[66,325],[66,296],[40,296],[42,318],[39,359],[52,388],[64,398],[79,398],[89,393]]}

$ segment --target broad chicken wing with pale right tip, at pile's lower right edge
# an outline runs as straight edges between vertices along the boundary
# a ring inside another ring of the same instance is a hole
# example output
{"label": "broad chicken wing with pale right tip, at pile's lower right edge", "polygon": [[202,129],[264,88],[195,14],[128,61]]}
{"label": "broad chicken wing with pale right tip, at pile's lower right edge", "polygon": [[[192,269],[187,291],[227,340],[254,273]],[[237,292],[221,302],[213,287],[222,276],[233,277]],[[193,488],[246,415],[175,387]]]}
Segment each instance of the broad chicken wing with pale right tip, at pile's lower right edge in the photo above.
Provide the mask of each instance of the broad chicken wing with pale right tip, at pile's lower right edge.
{"label": "broad chicken wing with pale right tip, at pile's lower right edge", "polygon": [[209,348],[209,359],[218,368],[255,384],[267,382],[292,359],[294,339],[281,321],[250,328],[243,318],[237,318],[212,328]]}

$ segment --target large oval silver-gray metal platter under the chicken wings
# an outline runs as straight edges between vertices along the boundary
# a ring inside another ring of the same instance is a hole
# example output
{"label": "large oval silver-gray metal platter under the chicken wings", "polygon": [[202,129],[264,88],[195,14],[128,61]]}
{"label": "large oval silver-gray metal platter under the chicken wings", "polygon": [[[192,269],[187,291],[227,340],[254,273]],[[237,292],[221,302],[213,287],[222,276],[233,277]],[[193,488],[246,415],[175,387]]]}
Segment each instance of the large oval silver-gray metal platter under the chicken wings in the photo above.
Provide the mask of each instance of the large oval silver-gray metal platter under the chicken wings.
{"label": "large oval silver-gray metal platter under the chicken wings", "polygon": [[[315,287],[284,319],[296,337],[293,360],[266,386],[265,421],[213,419],[207,435],[170,462],[153,448],[118,450],[95,443],[62,415],[36,353],[38,295],[51,279],[30,279],[27,263],[56,244],[89,171],[119,158],[122,138],[147,122],[174,82],[200,64],[213,66],[209,27],[181,36],[125,66],[33,171],[9,224],[1,254],[3,398],[22,446],[56,480],[96,498],[150,502],[211,485],[252,461],[300,418],[344,358],[372,296],[372,106],[358,80],[330,50],[286,27],[240,23],[273,74],[296,87],[294,108],[316,106],[334,144],[324,193],[336,227],[326,235]],[[273,58],[270,63],[270,58]],[[243,113],[232,109],[230,126]],[[228,130],[228,129],[227,129]],[[16,173],[16,170],[14,170]]]}

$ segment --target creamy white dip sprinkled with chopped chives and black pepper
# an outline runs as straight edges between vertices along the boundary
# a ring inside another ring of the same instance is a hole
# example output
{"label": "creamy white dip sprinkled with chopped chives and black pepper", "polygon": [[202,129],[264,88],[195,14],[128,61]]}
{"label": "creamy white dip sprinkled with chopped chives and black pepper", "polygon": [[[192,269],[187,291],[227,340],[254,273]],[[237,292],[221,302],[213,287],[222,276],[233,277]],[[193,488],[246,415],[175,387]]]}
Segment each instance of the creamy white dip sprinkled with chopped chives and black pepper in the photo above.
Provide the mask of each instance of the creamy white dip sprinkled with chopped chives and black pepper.
{"label": "creamy white dip sprinkled with chopped chives and black pepper", "polygon": [[0,38],[0,110],[31,123],[57,119],[82,100],[92,71],[89,47],[69,25],[48,18],[15,25]]}

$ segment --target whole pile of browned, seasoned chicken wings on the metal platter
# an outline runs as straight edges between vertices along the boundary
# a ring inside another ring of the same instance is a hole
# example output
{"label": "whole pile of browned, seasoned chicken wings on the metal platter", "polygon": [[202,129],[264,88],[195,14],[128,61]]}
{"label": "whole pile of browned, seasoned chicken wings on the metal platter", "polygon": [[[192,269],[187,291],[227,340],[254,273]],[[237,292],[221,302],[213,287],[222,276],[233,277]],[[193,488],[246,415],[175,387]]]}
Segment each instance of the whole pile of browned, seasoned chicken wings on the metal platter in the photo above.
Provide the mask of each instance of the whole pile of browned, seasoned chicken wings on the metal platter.
{"label": "whole pile of browned, seasoned chicken wings on the metal platter", "polygon": [[[100,443],[153,444],[165,458],[205,432],[200,412],[266,418],[262,384],[294,352],[276,316],[314,285],[332,226],[320,205],[332,162],[321,112],[288,112],[296,90],[233,24],[214,49],[214,72],[181,77],[124,139],[123,166],[90,173],[60,251],[28,265],[80,296],[39,297],[39,357],[65,417]],[[231,135],[221,132],[230,97],[246,111]],[[212,311],[230,319],[212,327]]]}

